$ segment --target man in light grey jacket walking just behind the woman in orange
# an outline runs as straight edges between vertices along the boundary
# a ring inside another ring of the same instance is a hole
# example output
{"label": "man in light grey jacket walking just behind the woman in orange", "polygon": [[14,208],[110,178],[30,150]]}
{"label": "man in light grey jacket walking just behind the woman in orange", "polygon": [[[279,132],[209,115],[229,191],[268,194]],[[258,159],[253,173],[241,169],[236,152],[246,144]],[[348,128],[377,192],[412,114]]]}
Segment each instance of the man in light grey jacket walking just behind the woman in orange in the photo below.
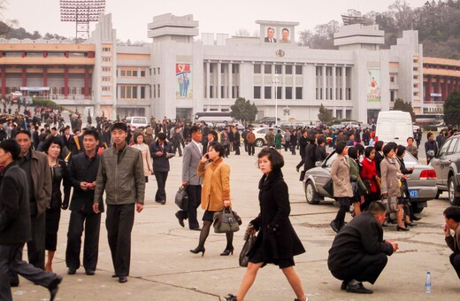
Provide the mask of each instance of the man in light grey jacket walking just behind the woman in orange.
{"label": "man in light grey jacket walking just behind the woman in orange", "polygon": [[198,165],[203,158],[203,135],[200,127],[190,127],[192,142],[184,148],[184,158],[182,160],[182,185],[186,186],[188,194],[188,207],[176,212],[176,218],[180,226],[184,227],[184,220],[188,218],[188,228],[200,231],[200,224],[196,219],[196,208],[201,204],[201,185],[203,178],[197,174]]}

